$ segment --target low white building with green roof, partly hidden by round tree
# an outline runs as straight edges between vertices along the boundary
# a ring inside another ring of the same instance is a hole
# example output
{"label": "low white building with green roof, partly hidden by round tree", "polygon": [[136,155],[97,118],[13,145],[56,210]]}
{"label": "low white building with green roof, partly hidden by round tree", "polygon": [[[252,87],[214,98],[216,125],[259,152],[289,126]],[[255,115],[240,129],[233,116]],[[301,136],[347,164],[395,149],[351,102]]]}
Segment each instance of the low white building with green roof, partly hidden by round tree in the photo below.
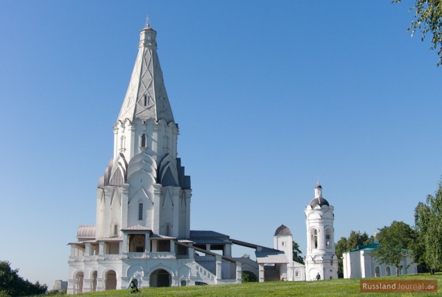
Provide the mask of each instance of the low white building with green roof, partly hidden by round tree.
{"label": "low white building with green roof, partly hidden by round tree", "polygon": [[[352,251],[344,252],[343,256],[343,278],[375,278],[378,276],[396,275],[396,266],[380,264],[374,257],[373,252],[379,246],[375,238],[373,244],[357,246]],[[404,257],[400,262],[402,268],[399,271],[403,274],[418,273],[418,266],[414,263],[413,257]]]}

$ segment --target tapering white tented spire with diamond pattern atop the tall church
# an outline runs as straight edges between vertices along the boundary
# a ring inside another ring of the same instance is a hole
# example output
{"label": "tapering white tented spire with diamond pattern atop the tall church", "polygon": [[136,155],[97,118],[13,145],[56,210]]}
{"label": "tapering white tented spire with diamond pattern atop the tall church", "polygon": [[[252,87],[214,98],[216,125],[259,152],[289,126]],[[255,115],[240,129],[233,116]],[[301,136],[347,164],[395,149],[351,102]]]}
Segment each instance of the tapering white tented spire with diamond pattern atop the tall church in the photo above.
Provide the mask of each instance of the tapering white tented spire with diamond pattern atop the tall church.
{"label": "tapering white tented spire with diamond pattern atop the tall church", "polygon": [[157,54],[157,32],[150,24],[139,32],[138,55],[118,120],[174,121]]}

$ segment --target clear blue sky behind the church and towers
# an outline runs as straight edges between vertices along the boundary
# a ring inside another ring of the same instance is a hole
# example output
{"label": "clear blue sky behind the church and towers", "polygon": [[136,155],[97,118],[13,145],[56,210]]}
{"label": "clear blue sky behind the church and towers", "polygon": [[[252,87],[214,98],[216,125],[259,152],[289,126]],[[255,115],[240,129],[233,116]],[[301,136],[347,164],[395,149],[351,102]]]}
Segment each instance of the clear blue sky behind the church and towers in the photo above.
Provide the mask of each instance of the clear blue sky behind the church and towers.
{"label": "clear blue sky behind the church and towers", "polygon": [[442,174],[442,67],[390,2],[2,0],[0,260],[67,280],[147,12],[192,230],[272,247],[284,224],[305,255],[317,180],[336,241],[414,225]]}

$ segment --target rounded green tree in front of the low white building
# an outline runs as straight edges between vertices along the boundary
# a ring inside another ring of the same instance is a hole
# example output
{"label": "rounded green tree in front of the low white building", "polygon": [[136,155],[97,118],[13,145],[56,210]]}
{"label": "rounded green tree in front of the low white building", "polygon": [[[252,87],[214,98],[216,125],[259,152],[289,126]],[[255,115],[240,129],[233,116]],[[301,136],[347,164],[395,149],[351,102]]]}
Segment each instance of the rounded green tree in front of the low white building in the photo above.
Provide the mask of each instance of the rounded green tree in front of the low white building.
{"label": "rounded green tree in front of the low white building", "polygon": [[412,255],[410,248],[416,241],[416,232],[402,221],[393,221],[391,226],[380,229],[378,239],[380,244],[373,255],[380,264],[396,266],[396,275],[399,275],[400,262]]}

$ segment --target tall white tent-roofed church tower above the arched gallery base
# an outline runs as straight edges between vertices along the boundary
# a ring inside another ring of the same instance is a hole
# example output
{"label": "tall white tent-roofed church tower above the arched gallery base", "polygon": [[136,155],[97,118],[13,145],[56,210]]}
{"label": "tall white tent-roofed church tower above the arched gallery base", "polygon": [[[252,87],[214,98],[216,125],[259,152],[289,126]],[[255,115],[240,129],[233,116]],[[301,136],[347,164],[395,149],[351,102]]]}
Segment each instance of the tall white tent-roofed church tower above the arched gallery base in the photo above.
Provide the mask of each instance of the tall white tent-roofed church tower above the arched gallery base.
{"label": "tall white tent-roofed church tower above the arched gallery base", "polygon": [[190,177],[177,158],[178,124],[160,60],[156,31],[140,31],[138,55],[117,122],[114,152],[99,180],[96,238],[142,226],[154,234],[189,238]]}

